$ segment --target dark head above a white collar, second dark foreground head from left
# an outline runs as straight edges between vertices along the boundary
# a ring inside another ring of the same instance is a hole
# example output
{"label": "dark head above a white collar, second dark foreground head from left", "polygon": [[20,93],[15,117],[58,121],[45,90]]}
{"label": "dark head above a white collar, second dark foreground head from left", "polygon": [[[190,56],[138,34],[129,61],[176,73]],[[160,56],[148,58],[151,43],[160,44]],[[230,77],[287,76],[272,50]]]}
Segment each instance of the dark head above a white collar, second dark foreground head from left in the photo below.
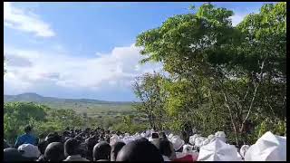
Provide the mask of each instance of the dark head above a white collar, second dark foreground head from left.
{"label": "dark head above a white collar, second dark foreground head from left", "polygon": [[80,154],[80,142],[77,139],[67,139],[64,143],[65,156]]}

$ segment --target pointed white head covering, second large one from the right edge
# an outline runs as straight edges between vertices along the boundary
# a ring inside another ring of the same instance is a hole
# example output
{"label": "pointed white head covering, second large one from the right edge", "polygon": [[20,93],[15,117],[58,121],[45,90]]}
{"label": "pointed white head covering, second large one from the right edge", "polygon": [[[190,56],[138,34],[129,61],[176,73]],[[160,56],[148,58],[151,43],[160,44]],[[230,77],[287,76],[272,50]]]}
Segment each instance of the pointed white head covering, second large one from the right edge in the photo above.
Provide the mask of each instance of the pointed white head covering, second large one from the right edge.
{"label": "pointed white head covering, second large one from the right edge", "polygon": [[237,148],[226,144],[221,139],[202,146],[199,150],[198,161],[242,161],[237,157]]}

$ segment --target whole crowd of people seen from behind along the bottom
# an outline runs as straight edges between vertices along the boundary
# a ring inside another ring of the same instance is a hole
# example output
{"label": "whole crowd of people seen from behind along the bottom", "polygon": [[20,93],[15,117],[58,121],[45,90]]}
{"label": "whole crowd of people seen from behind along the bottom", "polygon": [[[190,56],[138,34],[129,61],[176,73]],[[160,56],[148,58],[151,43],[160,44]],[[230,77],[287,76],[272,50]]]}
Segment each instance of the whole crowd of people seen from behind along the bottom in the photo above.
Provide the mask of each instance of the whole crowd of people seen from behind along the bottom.
{"label": "whole crowd of people seen from behind along the bottom", "polygon": [[[225,132],[208,137],[149,129],[131,135],[109,129],[65,129],[37,139],[27,126],[14,146],[4,140],[5,161],[242,161],[286,160],[286,138],[266,132],[254,145],[237,149]],[[189,143],[186,143],[189,142]]]}

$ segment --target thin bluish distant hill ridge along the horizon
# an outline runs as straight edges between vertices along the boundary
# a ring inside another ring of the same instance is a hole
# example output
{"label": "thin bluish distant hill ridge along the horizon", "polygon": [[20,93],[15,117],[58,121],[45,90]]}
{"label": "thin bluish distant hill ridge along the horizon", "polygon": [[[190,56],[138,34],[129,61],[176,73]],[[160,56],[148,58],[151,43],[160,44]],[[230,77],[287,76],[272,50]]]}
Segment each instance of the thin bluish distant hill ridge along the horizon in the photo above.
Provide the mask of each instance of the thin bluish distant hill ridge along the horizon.
{"label": "thin bluish distant hill ridge along the horizon", "polygon": [[130,101],[98,101],[98,100],[91,100],[91,99],[61,99],[61,98],[54,98],[54,97],[43,97],[36,93],[23,93],[18,95],[4,95],[4,101],[33,101],[39,103],[47,103],[47,102],[69,102],[69,103],[92,103],[92,104],[131,104]]}

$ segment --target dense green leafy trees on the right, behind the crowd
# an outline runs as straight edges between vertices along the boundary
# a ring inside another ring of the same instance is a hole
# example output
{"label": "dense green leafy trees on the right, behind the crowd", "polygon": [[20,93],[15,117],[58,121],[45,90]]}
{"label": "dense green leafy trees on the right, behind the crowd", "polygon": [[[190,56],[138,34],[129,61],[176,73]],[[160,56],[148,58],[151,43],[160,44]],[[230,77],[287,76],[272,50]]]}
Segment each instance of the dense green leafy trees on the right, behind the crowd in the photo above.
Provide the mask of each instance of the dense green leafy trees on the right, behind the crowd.
{"label": "dense green leafy trees on the right, behind the crowd", "polygon": [[256,138],[255,125],[285,120],[285,13],[285,3],[263,5],[235,27],[232,11],[204,4],[139,34],[136,44],[147,56],[140,62],[162,62],[170,74],[169,82],[148,82],[155,86],[146,90],[165,91],[166,126],[194,126],[205,135],[223,129],[239,144],[250,141],[247,135]]}

